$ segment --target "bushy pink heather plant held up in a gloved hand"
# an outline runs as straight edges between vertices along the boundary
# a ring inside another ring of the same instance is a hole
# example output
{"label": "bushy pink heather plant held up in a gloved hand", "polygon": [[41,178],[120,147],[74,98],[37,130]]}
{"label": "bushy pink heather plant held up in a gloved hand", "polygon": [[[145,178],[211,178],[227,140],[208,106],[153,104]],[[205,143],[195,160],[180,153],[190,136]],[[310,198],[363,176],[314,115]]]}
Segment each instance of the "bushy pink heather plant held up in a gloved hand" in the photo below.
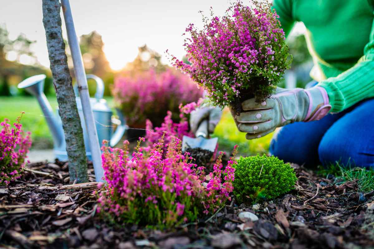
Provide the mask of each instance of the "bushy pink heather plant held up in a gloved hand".
{"label": "bushy pink heather plant held up in a gloved hand", "polygon": [[222,17],[212,12],[210,20],[203,16],[201,30],[189,24],[184,46],[190,64],[171,58],[208,91],[213,105],[240,105],[244,97],[266,99],[290,63],[275,10],[267,1],[250,3],[253,7],[232,3]]}

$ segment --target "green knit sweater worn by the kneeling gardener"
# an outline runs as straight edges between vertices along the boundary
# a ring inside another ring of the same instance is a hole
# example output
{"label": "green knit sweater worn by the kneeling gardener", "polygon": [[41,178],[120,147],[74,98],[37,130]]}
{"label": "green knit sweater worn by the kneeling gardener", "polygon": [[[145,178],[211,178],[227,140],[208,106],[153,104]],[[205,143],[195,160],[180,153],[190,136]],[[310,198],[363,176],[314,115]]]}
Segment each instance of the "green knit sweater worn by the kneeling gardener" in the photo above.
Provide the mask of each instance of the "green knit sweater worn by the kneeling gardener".
{"label": "green knit sweater worn by the kneeling gardener", "polygon": [[274,0],[273,7],[286,35],[304,23],[310,75],[326,89],[332,112],[374,97],[374,0]]}

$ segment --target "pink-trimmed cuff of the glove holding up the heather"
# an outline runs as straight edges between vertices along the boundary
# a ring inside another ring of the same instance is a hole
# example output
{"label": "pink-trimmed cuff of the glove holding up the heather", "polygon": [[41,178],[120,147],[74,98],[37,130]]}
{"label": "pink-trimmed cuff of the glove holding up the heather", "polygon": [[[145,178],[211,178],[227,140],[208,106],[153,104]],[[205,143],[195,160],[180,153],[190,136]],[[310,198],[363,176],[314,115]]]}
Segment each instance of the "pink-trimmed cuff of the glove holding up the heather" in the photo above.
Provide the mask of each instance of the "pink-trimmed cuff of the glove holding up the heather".
{"label": "pink-trimmed cuff of the glove holding up the heather", "polygon": [[320,120],[331,110],[327,91],[323,87],[312,87],[305,90],[309,98],[309,107],[304,122]]}

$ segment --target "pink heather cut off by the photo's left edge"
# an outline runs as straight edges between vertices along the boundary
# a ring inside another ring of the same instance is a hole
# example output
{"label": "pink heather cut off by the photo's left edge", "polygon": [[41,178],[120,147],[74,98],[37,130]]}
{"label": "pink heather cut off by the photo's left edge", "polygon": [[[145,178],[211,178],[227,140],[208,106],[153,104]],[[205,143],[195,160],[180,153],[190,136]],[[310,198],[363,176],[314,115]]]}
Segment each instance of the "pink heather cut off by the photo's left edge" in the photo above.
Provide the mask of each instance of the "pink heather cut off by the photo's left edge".
{"label": "pink heather cut off by the photo's left edge", "polygon": [[21,177],[21,172],[28,161],[28,149],[31,147],[30,132],[26,135],[20,124],[21,117],[10,127],[9,119],[0,123],[0,185],[8,185]]}

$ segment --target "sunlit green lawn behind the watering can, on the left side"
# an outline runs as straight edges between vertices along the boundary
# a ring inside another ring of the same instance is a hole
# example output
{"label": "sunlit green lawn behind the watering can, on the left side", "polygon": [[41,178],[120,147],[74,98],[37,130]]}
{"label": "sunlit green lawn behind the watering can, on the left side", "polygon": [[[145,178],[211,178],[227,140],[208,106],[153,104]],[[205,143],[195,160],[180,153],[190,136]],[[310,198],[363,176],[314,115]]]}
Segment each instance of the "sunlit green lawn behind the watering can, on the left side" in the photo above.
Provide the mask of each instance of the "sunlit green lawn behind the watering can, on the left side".
{"label": "sunlit green lawn behind the watering can, on the left side", "polygon": [[[55,113],[57,107],[56,97],[47,97]],[[112,98],[108,100],[108,105],[113,106]],[[42,110],[35,97],[0,97],[0,120],[10,119],[13,123],[15,119],[24,111],[21,124],[24,131],[31,131],[33,138],[33,148],[49,149],[53,147],[52,135],[43,116]]]}

